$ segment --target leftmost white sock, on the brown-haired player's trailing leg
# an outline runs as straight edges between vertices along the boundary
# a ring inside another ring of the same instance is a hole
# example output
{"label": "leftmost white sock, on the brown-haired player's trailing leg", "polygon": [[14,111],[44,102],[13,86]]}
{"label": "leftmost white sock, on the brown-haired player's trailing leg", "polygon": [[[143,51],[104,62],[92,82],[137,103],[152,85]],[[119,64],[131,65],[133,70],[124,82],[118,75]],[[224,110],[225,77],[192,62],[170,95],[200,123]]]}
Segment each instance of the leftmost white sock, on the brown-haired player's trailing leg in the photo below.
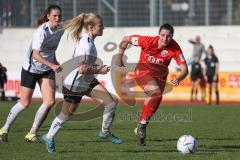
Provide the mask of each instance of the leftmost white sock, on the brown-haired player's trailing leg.
{"label": "leftmost white sock, on the brown-haired player's trailing leg", "polygon": [[10,110],[6,123],[5,125],[2,127],[2,130],[5,132],[8,132],[10,127],[12,126],[13,122],[15,121],[15,119],[18,117],[18,115],[24,110],[24,106],[21,105],[20,102],[18,102],[17,104],[15,104],[12,109]]}

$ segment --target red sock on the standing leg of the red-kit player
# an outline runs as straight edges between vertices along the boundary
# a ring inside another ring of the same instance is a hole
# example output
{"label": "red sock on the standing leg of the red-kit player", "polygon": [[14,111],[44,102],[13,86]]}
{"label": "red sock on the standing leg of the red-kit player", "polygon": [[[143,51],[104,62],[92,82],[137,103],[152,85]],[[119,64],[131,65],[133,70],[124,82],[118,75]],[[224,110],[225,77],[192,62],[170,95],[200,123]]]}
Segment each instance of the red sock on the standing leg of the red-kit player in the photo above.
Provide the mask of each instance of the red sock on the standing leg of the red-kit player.
{"label": "red sock on the standing leg of the red-kit player", "polygon": [[142,124],[146,124],[151,116],[157,111],[159,104],[162,101],[162,94],[154,93],[150,100],[144,104],[139,121]]}

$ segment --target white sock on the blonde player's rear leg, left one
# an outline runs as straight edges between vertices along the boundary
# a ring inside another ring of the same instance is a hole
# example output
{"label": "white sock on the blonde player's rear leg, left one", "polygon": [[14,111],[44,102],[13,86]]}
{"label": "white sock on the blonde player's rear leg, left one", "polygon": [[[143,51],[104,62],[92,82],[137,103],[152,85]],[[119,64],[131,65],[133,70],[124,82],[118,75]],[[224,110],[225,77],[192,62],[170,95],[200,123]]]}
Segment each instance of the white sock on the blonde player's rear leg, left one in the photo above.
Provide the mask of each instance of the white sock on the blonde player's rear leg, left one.
{"label": "white sock on the blonde player's rear leg, left one", "polygon": [[58,131],[63,127],[63,124],[70,118],[70,116],[64,115],[62,113],[60,113],[59,116],[57,116],[52,124],[51,127],[47,133],[47,138],[48,139],[53,139],[56,134],[58,133]]}

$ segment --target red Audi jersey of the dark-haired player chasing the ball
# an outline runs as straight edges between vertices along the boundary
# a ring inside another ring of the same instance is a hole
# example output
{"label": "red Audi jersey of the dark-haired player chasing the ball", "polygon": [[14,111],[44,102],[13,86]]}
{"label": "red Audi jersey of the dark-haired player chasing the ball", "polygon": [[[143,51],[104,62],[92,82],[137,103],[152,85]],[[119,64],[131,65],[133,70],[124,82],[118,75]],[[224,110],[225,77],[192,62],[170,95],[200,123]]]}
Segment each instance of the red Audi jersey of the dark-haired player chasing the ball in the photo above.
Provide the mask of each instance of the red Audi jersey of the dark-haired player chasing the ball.
{"label": "red Audi jersey of the dark-haired player chasing the ball", "polygon": [[134,46],[141,47],[140,60],[137,65],[137,69],[140,71],[148,70],[154,77],[165,79],[172,58],[179,66],[186,63],[180,46],[173,39],[163,48],[158,47],[159,36],[132,35],[130,39]]}

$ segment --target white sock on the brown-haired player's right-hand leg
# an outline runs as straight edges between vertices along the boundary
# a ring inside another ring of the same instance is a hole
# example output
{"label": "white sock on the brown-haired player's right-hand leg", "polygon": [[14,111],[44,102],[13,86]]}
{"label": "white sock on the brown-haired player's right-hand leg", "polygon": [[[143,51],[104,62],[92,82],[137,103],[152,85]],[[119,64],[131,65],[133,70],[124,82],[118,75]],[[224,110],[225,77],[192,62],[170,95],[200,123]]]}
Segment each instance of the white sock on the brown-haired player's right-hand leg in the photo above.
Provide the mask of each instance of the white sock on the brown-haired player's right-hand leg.
{"label": "white sock on the brown-haired player's right-hand leg", "polygon": [[29,133],[36,134],[39,128],[41,127],[44,120],[47,118],[49,112],[49,107],[46,104],[42,104],[35,115],[35,119],[32,125],[32,128]]}

